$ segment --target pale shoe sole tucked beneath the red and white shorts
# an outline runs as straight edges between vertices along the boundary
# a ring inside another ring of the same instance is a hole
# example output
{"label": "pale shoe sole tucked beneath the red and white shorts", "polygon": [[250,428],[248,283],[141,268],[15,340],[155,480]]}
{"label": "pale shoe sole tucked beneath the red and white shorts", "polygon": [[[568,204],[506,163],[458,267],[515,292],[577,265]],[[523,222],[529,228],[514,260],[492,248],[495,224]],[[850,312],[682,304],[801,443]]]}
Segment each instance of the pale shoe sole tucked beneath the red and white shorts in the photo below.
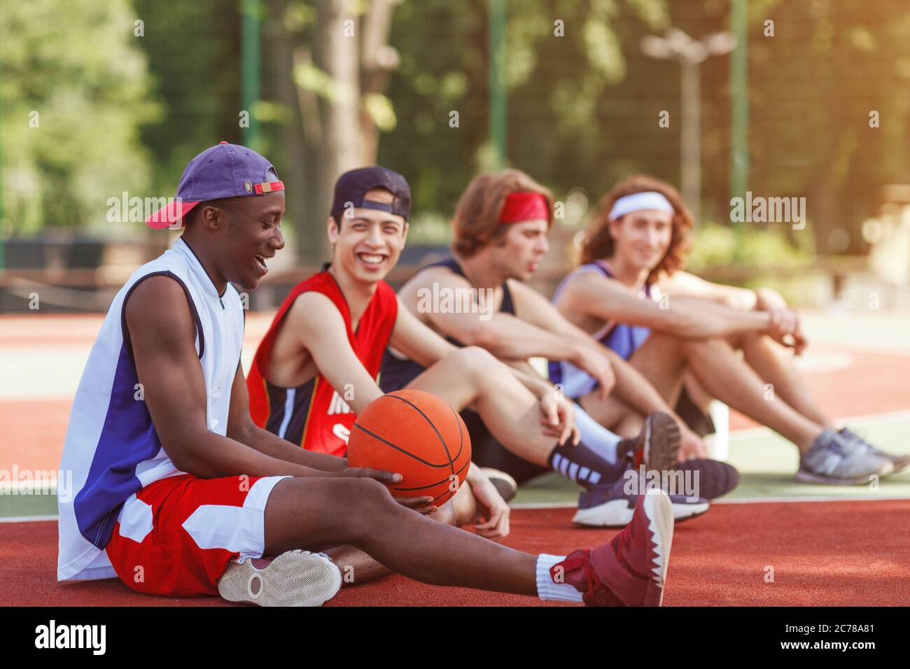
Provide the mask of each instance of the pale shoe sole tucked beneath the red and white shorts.
{"label": "pale shoe sole tucked beneath the red and white shorts", "polygon": [[247,558],[230,563],[218,579],[228,602],[259,606],[321,606],[341,588],[339,568],[322,553],[288,551],[261,568]]}

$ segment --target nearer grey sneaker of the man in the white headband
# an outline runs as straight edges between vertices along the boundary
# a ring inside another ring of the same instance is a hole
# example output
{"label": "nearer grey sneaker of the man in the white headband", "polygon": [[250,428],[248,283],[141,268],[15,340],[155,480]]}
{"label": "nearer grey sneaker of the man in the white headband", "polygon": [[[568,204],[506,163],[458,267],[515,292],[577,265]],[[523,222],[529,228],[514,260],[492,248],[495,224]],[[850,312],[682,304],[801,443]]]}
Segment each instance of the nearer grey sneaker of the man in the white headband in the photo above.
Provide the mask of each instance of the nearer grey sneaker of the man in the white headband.
{"label": "nearer grey sneaker of the man in the white headband", "polygon": [[829,485],[859,485],[868,483],[870,476],[885,476],[895,471],[892,461],[866,451],[825,430],[799,459],[797,481]]}

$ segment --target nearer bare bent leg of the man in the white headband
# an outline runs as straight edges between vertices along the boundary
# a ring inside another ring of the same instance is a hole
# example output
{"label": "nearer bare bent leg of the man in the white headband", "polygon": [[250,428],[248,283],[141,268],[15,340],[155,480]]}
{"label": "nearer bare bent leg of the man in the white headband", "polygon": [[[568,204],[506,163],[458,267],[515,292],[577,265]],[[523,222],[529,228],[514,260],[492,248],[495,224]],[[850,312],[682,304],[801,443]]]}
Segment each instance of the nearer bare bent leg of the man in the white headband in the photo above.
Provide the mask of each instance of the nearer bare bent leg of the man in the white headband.
{"label": "nearer bare bent leg of the man in the white headband", "polygon": [[802,452],[824,430],[785,400],[765,400],[763,380],[726,340],[683,340],[654,333],[630,362],[671,404],[679,399],[683,371],[692,370],[706,392],[793,441]]}

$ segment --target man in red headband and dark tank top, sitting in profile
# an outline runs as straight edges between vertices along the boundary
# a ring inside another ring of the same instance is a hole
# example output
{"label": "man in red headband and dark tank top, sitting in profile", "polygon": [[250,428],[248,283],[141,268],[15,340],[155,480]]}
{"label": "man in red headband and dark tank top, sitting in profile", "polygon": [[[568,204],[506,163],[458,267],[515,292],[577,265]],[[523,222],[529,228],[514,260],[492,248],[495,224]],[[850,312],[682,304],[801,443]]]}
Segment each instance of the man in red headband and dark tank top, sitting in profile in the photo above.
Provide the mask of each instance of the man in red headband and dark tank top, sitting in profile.
{"label": "man in red headband and dark tank top, sitting in profile", "polygon": [[[470,431],[474,462],[495,470],[488,475],[501,490],[511,488],[513,494],[515,481],[560,471],[584,488],[574,522],[622,525],[628,522],[633,503],[624,486],[628,478],[623,475],[642,464],[647,470],[671,469],[681,437],[689,451],[700,452],[703,444],[672,415],[641,374],[572,326],[549,300],[523,283],[549,249],[552,210],[550,191],[518,170],[480,175],[465,190],[455,212],[454,257],[421,269],[400,289],[399,299],[456,346],[480,346],[528,374],[534,374],[528,363],[531,357],[569,360],[599,380],[604,397],[612,390],[628,405],[626,420],[615,425],[621,434],[632,437],[626,440],[575,405],[581,441],[573,448],[552,451],[548,466],[516,457],[490,434],[478,414],[461,414]],[[465,309],[449,309],[444,301],[435,299],[466,292],[490,303],[488,318]],[[417,361],[392,346],[383,360],[379,383],[387,392],[397,390],[422,370]],[[730,468],[720,463],[684,466],[700,468],[701,494],[672,496],[677,521],[707,511],[708,502],[701,498],[727,492],[734,480]]]}

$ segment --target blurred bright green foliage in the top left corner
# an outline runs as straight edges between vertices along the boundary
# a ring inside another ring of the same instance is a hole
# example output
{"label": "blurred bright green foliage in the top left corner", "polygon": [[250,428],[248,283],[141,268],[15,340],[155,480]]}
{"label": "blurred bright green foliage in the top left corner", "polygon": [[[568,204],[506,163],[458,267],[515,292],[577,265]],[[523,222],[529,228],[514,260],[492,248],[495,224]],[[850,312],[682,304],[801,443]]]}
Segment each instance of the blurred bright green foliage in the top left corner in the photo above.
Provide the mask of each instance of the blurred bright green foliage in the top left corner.
{"label": "blurred bright green foliage in the top left corner", "polygon": [[106,198],[147,188],[139,125],[159,107],[148,98],[135,20],[125,0],[4,4],[5,232],[109,228]]}

